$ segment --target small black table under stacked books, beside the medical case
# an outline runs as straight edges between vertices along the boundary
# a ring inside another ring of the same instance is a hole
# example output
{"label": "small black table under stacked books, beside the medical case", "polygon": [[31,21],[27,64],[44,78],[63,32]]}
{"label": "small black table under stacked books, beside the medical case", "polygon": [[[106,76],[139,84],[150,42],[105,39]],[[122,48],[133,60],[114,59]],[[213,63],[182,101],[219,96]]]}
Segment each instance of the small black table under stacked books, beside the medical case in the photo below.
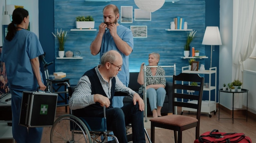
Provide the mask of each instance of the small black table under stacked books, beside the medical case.
{"label": "small black table under stacked books, beside the medical case", "polygon": [[[47,79],[47,85],[49,85],[47,87],[50,88],[50,92],[58,93],[58,97],[60,97],[62,99],[62,100],[59,100],[58,103],[65,102],[64,105],[59,105],[59,106],[65,106],[65,111],[67,113],[67,106],[68,106],[68,104],[67,104],[67,93],[68,93],[67,86],[64,84],[64,85],[60,85],[60,86],[54,88],[54,85],[56,85],[58,83],[61,83],[61,82],[67,82],[70,85],[70,79],[69,78],[52,79],[52,80]],[[61,91],[61,87],[64,87],[63,91]],[[64,93],[65,97],[61,96],[61,93]],[[58,105],[57,105],[57,107],[58,107]]]}

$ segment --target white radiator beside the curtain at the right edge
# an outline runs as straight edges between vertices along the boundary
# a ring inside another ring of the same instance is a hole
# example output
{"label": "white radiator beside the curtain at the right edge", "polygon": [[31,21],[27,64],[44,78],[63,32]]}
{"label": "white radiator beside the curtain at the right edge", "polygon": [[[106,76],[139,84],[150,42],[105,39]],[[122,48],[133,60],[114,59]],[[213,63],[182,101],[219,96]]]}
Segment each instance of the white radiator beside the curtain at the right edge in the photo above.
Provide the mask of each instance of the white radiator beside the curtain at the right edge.
{"label": "white radiator beside the curtain at the right edge", "polygon": [[[256,112],[256,71],[244,70],[243,89],[248,89],[248,110]],[[243,97],[243,105],[246,106],[246,96]]]}

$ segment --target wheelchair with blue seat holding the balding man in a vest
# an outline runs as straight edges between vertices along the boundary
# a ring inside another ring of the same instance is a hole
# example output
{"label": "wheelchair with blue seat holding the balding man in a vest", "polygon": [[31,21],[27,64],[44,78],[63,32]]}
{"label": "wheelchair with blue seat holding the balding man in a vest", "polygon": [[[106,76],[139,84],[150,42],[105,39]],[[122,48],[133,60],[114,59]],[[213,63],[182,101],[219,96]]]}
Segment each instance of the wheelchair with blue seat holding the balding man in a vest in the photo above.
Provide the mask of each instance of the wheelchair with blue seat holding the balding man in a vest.
{"label": "wheelchair with blue seat holding the balding man in a vest", "polygon": [[[68,88],[68,99],[70,99],[72,93],[74,92],[74,87],[70,87],[67,82],[58,83],[58,85],[65,84]],[[115,96],[130,96],[128,93],[117,92]],[[104,117],[76,117],[72,115],[72,110],[70,114],[62,115],[58,117],[54,124],[52,125],[50,133],[50,143],[107,143],[108,137],[113,137],[116,143],[119,143],[117,137],[114,134],[110,134],[111,130],[107,130],[106,126],[106,107],[104,106]],[[99,124],[95,124],[99,123]],[[126,126],[126,134],[131,128],[129,124]],[[146,137],[149,143],[151,143],[150,138],[146,129],[144,128]],[[101,136],[103,139],[101,140]],[[132,141],[132,134],[127,135],[128,142]]]}

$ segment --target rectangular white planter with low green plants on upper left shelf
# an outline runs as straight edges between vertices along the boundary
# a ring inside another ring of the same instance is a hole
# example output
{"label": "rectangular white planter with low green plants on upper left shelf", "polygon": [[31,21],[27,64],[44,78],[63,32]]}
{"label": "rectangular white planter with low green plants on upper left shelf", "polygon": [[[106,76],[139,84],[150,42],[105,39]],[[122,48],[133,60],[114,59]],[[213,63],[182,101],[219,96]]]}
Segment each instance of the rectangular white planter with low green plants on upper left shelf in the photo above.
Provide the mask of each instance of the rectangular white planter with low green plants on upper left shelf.
{"label": "rectangular white planter with low green plants on upper left shelf", "polygon": [[91,15],[88,16],[77,16],[76,17],[76,28],[82,29],[82,28],[94,28],[94,19]]}

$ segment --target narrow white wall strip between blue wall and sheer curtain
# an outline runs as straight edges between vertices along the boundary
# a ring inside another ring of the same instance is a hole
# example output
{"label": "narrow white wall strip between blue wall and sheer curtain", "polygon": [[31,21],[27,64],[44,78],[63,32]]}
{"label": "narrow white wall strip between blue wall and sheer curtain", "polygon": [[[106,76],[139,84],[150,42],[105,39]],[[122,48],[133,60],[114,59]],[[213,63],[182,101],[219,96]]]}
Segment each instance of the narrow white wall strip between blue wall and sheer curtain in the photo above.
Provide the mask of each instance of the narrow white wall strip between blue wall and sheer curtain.
{"label": "narrow white wall strip between blue wall and sheer curtain", "polygon": [[[233,48],[233,0],[220,0],[220,45],[219,88],[223,83],[232,82],[232,48]],[[220,93],[221,105],[232,109],[232,95]]]}

